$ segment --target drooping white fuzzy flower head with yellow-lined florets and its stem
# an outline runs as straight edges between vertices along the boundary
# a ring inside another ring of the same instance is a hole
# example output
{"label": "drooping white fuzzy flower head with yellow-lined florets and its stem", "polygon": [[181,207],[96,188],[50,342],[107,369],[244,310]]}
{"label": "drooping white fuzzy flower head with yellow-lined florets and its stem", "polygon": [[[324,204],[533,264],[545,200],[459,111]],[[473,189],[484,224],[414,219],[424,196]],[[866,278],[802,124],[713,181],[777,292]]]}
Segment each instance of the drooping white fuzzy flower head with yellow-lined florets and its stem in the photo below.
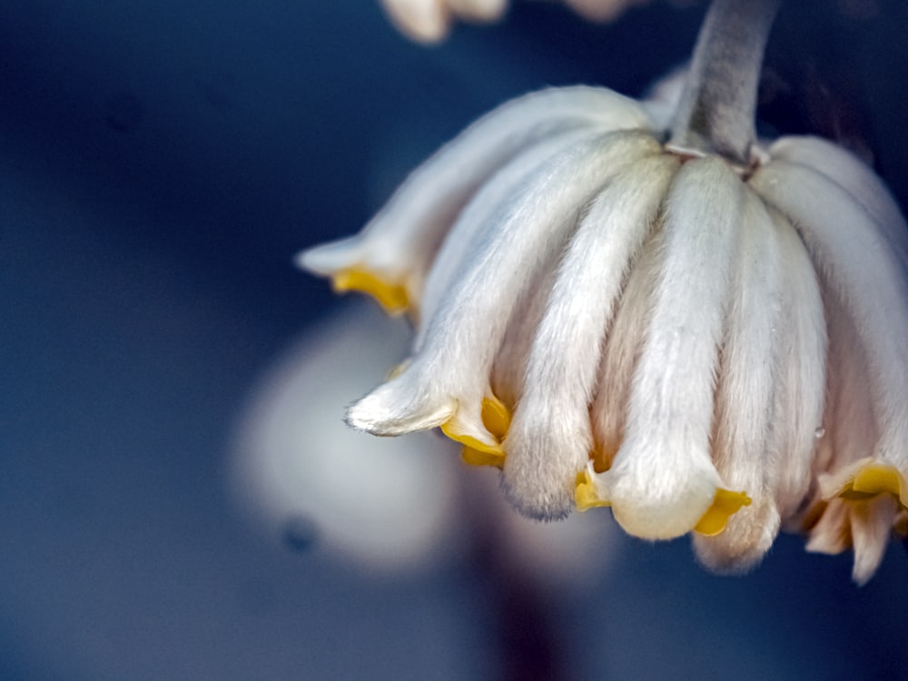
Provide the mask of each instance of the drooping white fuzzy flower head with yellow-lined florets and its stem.
{"label": "drooping white fuzzy flower head with yellow-lined florets and its stem", "polygon": [[348,423],[440,428],[529,517],[609,506],[724,571],[792,528],[869,578],[908,518],[908,232],[833,143],[754,142],[772,5],[714,5],[670,130],[606,89],[529,94],[304,252],[416,327]]}

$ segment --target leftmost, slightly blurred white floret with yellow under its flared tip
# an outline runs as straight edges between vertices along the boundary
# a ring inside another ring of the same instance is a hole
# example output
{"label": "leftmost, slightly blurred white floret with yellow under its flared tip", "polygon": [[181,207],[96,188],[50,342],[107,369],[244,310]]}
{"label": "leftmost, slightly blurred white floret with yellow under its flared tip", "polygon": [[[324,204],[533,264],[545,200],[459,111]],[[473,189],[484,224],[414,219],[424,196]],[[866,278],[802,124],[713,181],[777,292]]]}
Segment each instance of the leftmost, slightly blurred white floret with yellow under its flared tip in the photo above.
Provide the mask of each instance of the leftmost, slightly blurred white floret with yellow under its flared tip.
{"label": "leftmost, slightly blurred white floret with yellow under its flared tip", "polygon": [[[501,166],[560,133],[644,129],[646,111],[605,88],[549,88],[503,104],[422,163],[356,236],[297,257],[301,267],[419,309],[422,284],[439,245],[464,206]],[[361,287],[358,284],[367,282]],[[385,291],[393,291],[386,295]]]}

